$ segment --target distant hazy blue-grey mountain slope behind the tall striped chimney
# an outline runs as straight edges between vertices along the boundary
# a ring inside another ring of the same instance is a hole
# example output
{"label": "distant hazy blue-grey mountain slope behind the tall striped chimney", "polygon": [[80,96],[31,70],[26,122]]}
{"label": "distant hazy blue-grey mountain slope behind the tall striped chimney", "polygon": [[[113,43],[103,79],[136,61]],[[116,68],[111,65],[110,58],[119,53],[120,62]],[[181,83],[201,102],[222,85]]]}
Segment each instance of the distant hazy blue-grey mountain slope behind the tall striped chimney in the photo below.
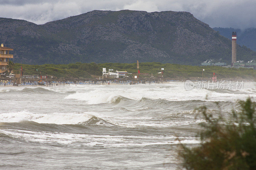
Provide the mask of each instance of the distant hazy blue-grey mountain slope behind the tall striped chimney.
{"label": "distant hazy blue-grey mountain slope behind the tall striped chimney", "polygon": [[235,28],[213,28],[215,31],[219,31],[220,35],[231,40],[231,33],[236,31],[237,44],[246,46],[247,48],[256,51],[256,28],[247,28],[245,30]]}

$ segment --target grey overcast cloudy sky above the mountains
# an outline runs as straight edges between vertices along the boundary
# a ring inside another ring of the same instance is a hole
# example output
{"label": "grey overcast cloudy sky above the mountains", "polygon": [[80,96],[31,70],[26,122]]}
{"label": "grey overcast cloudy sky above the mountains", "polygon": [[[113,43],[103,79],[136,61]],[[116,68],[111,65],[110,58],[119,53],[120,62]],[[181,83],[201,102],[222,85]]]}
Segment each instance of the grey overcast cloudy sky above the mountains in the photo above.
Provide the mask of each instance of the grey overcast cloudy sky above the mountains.
{"label": "grey overcast cloudy sky above the mountains", "polygon": [[0,17],[36,24],[92,10],[188,11],[211,27],[256,27],[256,0],[0,0]]}

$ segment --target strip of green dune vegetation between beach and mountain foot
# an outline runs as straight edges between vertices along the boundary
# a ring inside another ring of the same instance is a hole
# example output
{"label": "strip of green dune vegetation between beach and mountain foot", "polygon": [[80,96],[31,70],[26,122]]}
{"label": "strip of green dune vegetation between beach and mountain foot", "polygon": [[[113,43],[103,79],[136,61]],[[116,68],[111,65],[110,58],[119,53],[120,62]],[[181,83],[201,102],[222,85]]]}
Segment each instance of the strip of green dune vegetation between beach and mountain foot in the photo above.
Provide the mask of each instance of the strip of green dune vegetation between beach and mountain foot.
{"label": "strip of green dune vegetation between beach and mountain foot", "polygon": [[[28,65],[22,64],[23,75],[48,75],[57,78],[92,78],[102,75],[102,68],[128,71],[137,73],[136,63],[70,63],[70,64],[43,64]],[[224,68],[219,66],[190,66],[170,63],[147,62],[140,63],[140,73],[148,73],[157,76],[157,73],[164,68],[164,78],[191,79],[202,78],[209,79],[216,74],[217,79],[223,78],[244,78],[254,81],[256,70],[246,68]],[[15,63],[14,70],[20,69],[20,63]]]}

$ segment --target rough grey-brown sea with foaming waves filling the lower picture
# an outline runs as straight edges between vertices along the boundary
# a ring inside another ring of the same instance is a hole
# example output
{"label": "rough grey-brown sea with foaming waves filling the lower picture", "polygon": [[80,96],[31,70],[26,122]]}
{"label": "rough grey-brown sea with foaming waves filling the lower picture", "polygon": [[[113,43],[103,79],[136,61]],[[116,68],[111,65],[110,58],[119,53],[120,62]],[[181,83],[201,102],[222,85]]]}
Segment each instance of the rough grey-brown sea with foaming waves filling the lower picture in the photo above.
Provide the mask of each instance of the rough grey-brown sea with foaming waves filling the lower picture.
{"label": "rough grey-brown sea with foaming waves filling the lower picture", "polygon": [[[196,146],[207,106],[224,117],[243,89],[193,89],[184,83],[0,87],[1,169],[177,169],[180,143]],[[215,101],[219,101],[217,106]]]}

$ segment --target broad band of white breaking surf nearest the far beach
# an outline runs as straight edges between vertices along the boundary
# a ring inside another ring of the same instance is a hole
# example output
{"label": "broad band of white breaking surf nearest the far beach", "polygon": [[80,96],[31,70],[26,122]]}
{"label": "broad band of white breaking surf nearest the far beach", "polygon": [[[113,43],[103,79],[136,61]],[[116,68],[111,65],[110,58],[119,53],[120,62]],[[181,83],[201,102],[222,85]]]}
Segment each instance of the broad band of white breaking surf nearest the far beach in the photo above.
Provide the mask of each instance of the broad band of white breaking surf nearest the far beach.
{"label": "broad band of white breaking surf nearest the far beach", "polygon": [[[206,101],[235,101],[237,99],[245,100],[250,93],[251,97],[256,98],[254,84],[245,83],[244,89],[236,90],[236,94],[227,90],[215,92],[208,89],[193,89],[185,91],[182,83],[163,84],[163,85],[112,85],[106,86],[85,86],[83,92],[69,94],[65,99],[84,100],[87,104],[110,103],[117,96],[123,96],[132,100],[140,100],[141,98],[149,99],[165,99],[170,101],[185,100],[206,100]],[[254,91],[254,92],[252,92]],[[207,96],[207,98],[206,98]]]}

